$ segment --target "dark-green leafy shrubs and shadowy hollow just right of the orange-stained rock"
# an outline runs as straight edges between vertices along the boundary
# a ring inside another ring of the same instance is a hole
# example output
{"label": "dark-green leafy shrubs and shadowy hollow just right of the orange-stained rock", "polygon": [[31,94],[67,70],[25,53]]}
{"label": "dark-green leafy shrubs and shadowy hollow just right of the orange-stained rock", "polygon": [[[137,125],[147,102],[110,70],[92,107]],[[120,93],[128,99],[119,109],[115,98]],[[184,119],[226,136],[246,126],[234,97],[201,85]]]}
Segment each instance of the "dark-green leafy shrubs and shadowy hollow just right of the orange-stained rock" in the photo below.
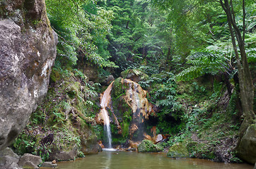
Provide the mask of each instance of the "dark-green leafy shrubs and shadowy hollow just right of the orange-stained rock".
{"label": "dark-green leafy shrubs and shadowy hollow just right of the orange-stained rock", "polygon": [[139,82],[149,90],[148,99],[156,105],[156,124],[159,133],[176,133],[182,128],[182,104],[178,101],[177,84],[173,73],[153,74],[149,80]]}

